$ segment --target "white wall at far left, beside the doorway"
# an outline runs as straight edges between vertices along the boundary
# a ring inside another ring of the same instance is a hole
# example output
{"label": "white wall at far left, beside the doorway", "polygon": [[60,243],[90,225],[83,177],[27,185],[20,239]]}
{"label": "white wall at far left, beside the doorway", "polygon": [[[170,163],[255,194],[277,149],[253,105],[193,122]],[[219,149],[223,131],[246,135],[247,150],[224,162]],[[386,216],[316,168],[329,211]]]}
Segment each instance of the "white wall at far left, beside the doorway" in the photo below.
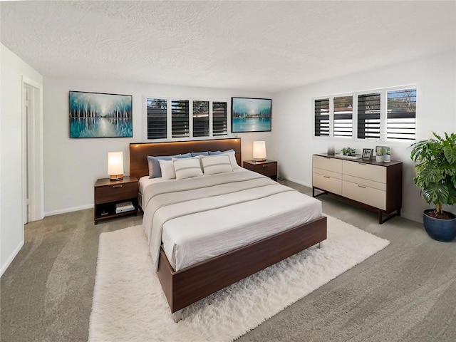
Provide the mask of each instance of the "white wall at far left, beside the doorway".
{"label": "white wall at far left, beside the doorway", "polygon": [[43,77],[1,44],[0,265],[4,273],[24,245],[22,206],[22,80]]}

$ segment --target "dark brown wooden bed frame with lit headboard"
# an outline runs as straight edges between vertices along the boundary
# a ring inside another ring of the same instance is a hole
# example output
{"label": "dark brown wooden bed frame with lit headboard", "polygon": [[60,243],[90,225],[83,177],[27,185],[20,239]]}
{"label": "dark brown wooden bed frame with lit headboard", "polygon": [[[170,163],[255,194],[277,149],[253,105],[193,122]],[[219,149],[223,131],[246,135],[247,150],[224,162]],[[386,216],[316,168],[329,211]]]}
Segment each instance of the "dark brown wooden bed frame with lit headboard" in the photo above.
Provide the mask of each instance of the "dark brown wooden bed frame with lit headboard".
{"label": "dark brown wooden bed frame with lit headboard", "polygon": [[[130,175],[138,179],[148,175],[147,155],[229,149],[236,152],[237,163],[242,165],[240,138],[130,143]],[[325,239],[326,217],[321,217],[180,271],[172,269],[165,252],[161,250],[157,276],[172,316],[179,321],[181,310],[186,306]]]}

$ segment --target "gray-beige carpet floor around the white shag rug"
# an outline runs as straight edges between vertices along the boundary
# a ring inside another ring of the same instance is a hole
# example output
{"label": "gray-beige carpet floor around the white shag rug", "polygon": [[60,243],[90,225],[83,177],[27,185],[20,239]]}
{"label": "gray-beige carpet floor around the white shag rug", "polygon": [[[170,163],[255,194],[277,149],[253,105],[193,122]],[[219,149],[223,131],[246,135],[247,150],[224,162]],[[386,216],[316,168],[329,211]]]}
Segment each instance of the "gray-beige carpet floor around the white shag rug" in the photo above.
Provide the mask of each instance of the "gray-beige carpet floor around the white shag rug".
{"label": "gray-beige carpet floor around the white shag rug", "polygon": [[[390,246],[238,341],[456,341],[456,241],[435,242],[402,217],[379,225],[373,212],[318,198],[323,212]],[[27,224],[1,277],[1,341],[87,341],[98,237],[141,222],[95,226],[88,209]]]}

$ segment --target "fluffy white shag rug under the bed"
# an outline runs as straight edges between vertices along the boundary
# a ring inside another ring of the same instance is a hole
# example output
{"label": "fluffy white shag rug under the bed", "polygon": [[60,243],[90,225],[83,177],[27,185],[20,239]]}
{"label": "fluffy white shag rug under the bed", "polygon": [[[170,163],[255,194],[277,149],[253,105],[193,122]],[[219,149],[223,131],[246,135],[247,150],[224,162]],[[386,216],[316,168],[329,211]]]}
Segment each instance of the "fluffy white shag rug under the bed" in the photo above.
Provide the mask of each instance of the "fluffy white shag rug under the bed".
{"label": "fluffy white shag rug under the bed", "polygon": [[328,217],[328,239],[170,314],[142,226],[100,235],[88,341],[233,341],[390,242]]}

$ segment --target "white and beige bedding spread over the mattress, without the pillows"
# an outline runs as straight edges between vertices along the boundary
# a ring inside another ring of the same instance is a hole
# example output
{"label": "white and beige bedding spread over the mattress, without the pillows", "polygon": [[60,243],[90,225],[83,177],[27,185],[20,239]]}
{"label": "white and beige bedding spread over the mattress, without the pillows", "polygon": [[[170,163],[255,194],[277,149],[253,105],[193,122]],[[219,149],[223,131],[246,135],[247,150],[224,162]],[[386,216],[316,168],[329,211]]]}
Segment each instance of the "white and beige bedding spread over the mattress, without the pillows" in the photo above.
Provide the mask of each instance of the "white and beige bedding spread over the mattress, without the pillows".
{"label": "white and beige bedding spread over the mattress, without the pillows", "polygon": [[321,202],[256,172],[157,182],[145,188],[143,226],[157,269],[175,270],[321,217]]}

